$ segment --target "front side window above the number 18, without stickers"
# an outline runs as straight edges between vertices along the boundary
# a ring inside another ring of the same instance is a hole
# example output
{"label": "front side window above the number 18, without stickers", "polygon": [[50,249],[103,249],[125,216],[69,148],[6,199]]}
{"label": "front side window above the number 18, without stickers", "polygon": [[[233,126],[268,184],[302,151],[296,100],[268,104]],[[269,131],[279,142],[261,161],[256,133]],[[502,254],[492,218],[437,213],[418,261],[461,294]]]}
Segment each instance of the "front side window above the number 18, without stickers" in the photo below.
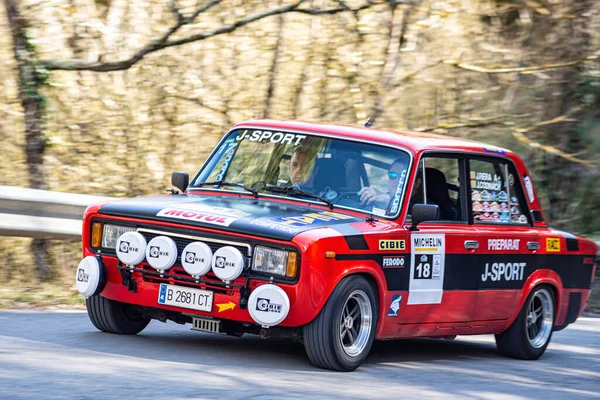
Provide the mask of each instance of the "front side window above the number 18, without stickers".
{"label": "front side window above the number 18, without stickers", "polygon": [[461,204],[461,160],[452,157],[426,157],[419,163],[419,170],[409,203],[436,204],[440,208],[441,221],[466,222],[467,216]]}

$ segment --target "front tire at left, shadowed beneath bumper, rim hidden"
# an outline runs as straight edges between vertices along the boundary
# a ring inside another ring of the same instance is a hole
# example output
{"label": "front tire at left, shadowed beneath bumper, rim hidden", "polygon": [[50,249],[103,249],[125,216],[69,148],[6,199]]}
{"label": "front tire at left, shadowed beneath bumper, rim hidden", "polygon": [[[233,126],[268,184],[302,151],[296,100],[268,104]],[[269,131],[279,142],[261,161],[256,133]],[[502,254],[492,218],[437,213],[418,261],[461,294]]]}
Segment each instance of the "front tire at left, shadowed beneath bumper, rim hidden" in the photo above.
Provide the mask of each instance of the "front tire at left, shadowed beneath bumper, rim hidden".
{"label": "front tire at left, shadowed beneath bumper, rim hidden", "polygon": [[85,305],[90,321],[102,332],[135,335],[150,323],[150,318],[144,318],[129,304],[105,297],[91,296]]}

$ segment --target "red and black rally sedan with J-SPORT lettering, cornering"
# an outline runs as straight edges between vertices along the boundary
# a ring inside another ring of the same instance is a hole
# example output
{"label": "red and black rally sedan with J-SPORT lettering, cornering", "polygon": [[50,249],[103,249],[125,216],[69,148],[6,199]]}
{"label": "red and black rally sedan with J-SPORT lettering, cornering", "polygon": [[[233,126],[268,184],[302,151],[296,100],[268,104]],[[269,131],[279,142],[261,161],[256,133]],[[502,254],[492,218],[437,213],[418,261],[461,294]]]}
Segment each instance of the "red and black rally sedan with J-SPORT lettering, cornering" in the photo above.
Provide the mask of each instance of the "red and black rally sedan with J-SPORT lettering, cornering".
{"label": "red and black rally sedan with J-SPORT lettering, cornering", "polygon": [[375,339],[493,333],[535,359],[590,295],[596,245],[547,226],[505,149],[248,121],[172,183],[85,212],[77,287],[101,331],[158,319],[291,338],[341,371]]}

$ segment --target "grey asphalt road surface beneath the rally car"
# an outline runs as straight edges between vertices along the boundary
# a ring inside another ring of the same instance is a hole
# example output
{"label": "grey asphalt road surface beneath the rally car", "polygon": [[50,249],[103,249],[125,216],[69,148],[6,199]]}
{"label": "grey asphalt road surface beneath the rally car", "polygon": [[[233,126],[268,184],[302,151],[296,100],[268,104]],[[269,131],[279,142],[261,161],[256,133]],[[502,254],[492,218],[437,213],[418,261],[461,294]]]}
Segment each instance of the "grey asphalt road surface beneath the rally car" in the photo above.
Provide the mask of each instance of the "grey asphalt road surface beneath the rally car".
{"label": "grey asphalt road surface beneath the rally car", "polygon": [[95,330],[83,312],[0,312],[1,399],[600,398],[600,318],[554,334],[537,361],[500,357],[492,336],[379,342],[351,373],[304,348],[150,323]]}

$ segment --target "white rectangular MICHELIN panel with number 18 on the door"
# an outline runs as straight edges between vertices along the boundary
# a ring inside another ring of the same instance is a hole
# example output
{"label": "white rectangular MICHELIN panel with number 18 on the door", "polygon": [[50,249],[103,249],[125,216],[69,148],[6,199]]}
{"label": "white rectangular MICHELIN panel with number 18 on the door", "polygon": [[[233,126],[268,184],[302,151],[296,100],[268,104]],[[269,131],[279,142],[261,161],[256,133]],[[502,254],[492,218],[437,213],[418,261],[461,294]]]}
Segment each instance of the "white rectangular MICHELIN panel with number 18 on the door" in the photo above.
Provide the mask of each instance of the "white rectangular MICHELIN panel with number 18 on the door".
{"label": "white rectangular MICHELIN panel with number 18 on the door", "polygon": [[411,235],[410,280],[407,304],[439,304],[444,293],[446,237]]}

